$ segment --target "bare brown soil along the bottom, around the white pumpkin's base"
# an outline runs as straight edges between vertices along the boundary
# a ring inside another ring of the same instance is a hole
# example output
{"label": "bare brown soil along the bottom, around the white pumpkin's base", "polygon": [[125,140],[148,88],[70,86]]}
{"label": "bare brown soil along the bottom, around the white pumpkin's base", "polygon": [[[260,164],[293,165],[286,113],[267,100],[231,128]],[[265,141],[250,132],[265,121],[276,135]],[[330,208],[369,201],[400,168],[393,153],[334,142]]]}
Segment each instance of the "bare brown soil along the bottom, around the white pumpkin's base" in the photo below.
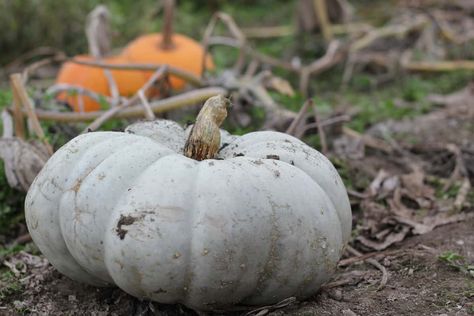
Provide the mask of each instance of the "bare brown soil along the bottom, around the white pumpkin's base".
{"label": "bare brown soil along the bottom, around the white pumpkin's base", "polygon": [[[474,220],[446,225],[390,249],[392,255],[382,260],[389,272],[382,290],[377,290],[381,273],[355,263],[335,276],[349,275],[352,284],[323,289],[270,315],[472,315],[474,279],[439,256],[456,252],[474,262],[473,227]],[[26,289],[0,304],[1,315],[196,315],[183,306],[139,301],[117,288],[85,286],[49,265],[41,273],[28,272]]]}

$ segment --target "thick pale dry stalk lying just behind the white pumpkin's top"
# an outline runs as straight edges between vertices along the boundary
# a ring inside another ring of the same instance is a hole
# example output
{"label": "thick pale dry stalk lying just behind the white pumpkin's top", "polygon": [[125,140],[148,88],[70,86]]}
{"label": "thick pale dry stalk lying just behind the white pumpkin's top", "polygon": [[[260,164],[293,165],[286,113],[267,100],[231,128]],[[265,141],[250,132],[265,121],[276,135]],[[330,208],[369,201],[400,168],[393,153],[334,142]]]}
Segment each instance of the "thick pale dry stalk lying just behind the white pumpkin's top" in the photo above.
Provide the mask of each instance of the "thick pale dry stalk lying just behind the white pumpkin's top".
{"label": "thick pale dry stalk lying just behind the white pumpkin's top", "polygon": [[[207,87],[201,89],[195,89],[189,92],[184,92],[176,96],[169,97],[167,99],[157,100],[150,103],[150,108],[153,113],[163,113],[171,110],[176,110],[185,106],[194,105],[199,102],[203,102],[212,96],[219,94],[227,94],[227,90],[221,87]],[[26,114],[26,110],[22,109],[22,113]],[[102,116],[105,111],[95,112],[58,112],[58,111],[44,111],[36,110],[36,115],[41,120],[50,120],[57,122],[85,122],[96,119]],[[141,105],[130,106],[123,109],[117,115],[116,118],[137,118],[143,117],[144,108]]]}

